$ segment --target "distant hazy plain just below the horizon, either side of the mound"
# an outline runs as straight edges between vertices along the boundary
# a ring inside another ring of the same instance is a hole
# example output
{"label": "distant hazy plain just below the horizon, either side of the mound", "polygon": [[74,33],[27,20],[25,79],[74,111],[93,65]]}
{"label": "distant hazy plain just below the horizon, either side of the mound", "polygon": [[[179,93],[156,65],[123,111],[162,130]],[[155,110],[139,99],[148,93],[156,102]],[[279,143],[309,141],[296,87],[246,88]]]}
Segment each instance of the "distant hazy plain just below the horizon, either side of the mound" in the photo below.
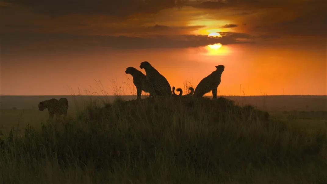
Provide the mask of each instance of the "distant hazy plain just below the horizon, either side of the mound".
{"label": "distant hazy plain just below the horizon, either side of the mound", "polygon": [[[116,96],[0,96],[0,109],[35,109],[40,101],[52,98],[67,98],[71,109],[91,99],[110,103]],[[284,96],[223,96],[239,105],[252,105],[267,111],[327,111],[327,96],[284,95]],[[136,99],[136,96],[120,96],[124,100]],[[146,98],[146,96],[143,96]],[[70,111],[70,110],[69,110]]]}

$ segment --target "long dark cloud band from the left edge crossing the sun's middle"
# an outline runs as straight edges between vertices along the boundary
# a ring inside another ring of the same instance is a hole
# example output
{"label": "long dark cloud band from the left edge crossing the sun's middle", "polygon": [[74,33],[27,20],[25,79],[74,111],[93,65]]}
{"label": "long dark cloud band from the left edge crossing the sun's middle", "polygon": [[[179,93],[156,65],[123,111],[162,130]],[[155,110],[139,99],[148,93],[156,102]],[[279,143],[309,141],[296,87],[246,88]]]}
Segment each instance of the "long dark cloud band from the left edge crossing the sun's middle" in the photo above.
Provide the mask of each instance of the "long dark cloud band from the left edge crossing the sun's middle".
{"label": "long dark cloud band from the left edge crossing the sun's middle", "polygon": [[[154,35],[150,37],[129,36],[88,36],[73,34],[40,33],[2,33],[1,46],[4,52],[13,50],[55,50],[85,48],[148,49],[148,48],[187,48],[221,43],[249,43],[250,35],[245,33],[225,32],[222,38],[206,35]],[[248,40],[241,40],[248,38]]]}

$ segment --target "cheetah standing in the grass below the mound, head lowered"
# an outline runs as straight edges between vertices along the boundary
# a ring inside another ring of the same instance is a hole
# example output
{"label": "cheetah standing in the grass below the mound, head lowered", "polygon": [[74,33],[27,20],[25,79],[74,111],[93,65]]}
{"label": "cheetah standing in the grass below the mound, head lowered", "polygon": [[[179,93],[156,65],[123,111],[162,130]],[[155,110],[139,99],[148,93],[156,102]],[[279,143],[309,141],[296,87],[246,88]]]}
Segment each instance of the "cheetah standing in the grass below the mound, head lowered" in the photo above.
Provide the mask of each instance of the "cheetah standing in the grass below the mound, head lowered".
{"label": "cheetah standing in the grass below the mound, head lowered", "polygon": [[61,98],[60,100],[50,99],[41,101],[39,103],[39,110],[43,111],[46,108],[48,108],[50,119],[52,119],[54,115],[56,115],[57,118],[62,114],[67,116],[68,101],[66,98]]}

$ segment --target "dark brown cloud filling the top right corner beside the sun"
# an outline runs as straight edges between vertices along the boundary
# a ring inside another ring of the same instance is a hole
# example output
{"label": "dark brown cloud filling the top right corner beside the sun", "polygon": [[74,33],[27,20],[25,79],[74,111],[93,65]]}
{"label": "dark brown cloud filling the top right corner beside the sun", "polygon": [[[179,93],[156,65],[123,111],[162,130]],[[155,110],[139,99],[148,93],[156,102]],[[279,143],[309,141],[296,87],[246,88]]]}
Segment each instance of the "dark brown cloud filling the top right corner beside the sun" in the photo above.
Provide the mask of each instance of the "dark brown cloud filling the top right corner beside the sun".
{"label": "dark brown cloud filling the top right corner beside the sun", "polygon": [[[236,13],[233,18],[242,20],[236,22],[237,25],[247,23],[246,31],[251,34],[317,37],[327,35],[326,6],[327,1],[324,0],[216,0],[193,4],[193,7],[205,9],[211,14],[248,12],[245,15]],[[231,27],[225,25],[222,28]]]}

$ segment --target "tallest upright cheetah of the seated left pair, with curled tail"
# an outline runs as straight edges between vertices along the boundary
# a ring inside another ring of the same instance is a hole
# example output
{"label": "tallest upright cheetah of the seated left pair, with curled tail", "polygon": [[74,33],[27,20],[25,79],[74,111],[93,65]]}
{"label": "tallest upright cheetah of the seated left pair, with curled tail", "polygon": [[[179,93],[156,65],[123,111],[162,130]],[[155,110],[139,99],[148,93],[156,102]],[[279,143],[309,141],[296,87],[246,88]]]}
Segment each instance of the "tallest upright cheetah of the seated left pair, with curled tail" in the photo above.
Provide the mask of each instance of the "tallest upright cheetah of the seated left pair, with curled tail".
{"label": "tallest upright cheetah of the seated left pair, with curled tail", "polygon": [[[161,75],[149,62],[142,62],[140,68],[145,69],[146,80],[148,81],[155,95],[176,96],[175,92],[172,93],[167,79]],[[177,91],[180,92],[179,95],[182,95],[181,88],[178,88]]]}

